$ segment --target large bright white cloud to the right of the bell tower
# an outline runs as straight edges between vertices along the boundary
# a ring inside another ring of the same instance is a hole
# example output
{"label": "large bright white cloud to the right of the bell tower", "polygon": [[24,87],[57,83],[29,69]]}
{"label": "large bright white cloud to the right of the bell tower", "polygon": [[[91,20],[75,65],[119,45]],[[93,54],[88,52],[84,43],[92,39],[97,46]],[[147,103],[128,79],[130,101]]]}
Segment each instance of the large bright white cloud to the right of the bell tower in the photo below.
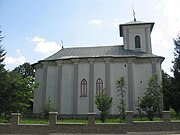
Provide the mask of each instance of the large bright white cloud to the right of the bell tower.
{"label": "large bright white cloud to the right of the bell tower", "polygon": [[173,60],[174,43],[173,38],[176,38],[180,31],[180,0],[161,0],[155,6],[158,13],[155,29],[152,32],[153,52],[165,57],[162,63],[163,69],[170,75]]}

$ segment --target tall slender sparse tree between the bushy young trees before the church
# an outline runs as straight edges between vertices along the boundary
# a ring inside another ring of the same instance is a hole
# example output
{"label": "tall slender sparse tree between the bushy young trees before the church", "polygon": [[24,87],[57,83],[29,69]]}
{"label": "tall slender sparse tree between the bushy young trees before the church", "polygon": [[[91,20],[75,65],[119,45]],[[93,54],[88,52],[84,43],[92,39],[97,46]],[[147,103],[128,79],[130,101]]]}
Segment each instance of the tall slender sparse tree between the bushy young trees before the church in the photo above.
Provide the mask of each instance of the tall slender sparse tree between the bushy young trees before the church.
{"label": "tall slender sparse tree between the bushy young trees before the church", "polygon": [[120,77],[119,80],[116,81],[116,88],[118,92],[118,97],[119,97],[119,103],[118,103],[118,109],[120,116],[122,117],[122,120],[125,120],[125,109],[126,109],[126,104],[125,104],[125,95],[126,95],[126,83],[125,83],[125,78]]}

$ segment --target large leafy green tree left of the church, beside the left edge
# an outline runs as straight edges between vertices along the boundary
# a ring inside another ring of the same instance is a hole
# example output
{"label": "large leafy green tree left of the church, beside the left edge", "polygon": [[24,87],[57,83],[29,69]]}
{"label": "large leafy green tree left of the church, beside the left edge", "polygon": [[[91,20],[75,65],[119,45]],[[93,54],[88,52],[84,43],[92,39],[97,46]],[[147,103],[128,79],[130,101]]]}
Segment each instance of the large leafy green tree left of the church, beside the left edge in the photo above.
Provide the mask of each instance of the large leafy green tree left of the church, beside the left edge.
{"label": "large leafy green tree left of the church, beside the left edge", "polygon": [[35,83],[30,84],[29,80],[32,78],[22,78],[17,72],[9,72],[6,75],[4,84],[6,87],[2,90],[1,99],[2,110],[6,116],[12,112],[25,113],[30,106],[30,99],[32,98],[32,91],[37,87]]}

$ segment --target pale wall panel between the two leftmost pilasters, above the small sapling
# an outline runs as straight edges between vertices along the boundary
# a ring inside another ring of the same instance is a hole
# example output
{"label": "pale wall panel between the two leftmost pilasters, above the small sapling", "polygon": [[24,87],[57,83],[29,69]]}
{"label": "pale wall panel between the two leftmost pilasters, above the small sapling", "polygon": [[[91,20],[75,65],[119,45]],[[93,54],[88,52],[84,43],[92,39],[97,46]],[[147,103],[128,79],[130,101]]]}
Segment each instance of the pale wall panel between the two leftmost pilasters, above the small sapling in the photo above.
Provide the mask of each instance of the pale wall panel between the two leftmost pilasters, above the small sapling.
{"label": "pale wall panel between the two leftmost pilasters, above the small sapling", "polygon": [[57,107],[57,66],[48,66],[47,69],[47,86],[46,86],[46,101],[48,98],[52,101],[54,107]]}

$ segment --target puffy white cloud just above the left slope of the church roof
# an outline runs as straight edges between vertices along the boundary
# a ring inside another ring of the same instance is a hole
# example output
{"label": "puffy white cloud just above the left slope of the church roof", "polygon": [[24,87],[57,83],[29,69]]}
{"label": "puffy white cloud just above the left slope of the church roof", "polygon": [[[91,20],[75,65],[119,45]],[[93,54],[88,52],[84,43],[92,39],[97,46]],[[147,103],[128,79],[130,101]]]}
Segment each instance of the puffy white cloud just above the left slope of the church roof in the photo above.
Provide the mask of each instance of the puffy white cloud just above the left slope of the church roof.
{"label": "puffy white cloud just above the left slope of the church roof", "polygon": [[47,41],[45,38],[33,37],[31,41],[36,45],[34,51],[46,55],[53,54],[61,49],[61,46],[54,41]]}

